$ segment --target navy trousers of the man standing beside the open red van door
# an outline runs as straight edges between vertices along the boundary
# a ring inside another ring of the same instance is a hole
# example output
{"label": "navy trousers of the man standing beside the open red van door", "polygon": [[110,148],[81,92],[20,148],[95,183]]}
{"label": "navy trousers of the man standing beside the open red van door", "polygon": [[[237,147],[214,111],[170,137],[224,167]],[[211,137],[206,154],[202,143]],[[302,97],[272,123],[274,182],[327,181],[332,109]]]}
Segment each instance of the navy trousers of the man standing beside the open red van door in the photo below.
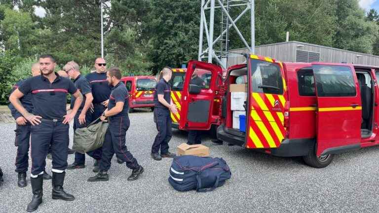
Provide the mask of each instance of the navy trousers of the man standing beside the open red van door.
{"label": "navy trousers of the man standing beside the open red van door", "polygon": [[168,142],[171,140],[171,115],[168,108],[154,108],[154,121],[158,134],[152,144],[152,153],[166,154],[168,152]]}

